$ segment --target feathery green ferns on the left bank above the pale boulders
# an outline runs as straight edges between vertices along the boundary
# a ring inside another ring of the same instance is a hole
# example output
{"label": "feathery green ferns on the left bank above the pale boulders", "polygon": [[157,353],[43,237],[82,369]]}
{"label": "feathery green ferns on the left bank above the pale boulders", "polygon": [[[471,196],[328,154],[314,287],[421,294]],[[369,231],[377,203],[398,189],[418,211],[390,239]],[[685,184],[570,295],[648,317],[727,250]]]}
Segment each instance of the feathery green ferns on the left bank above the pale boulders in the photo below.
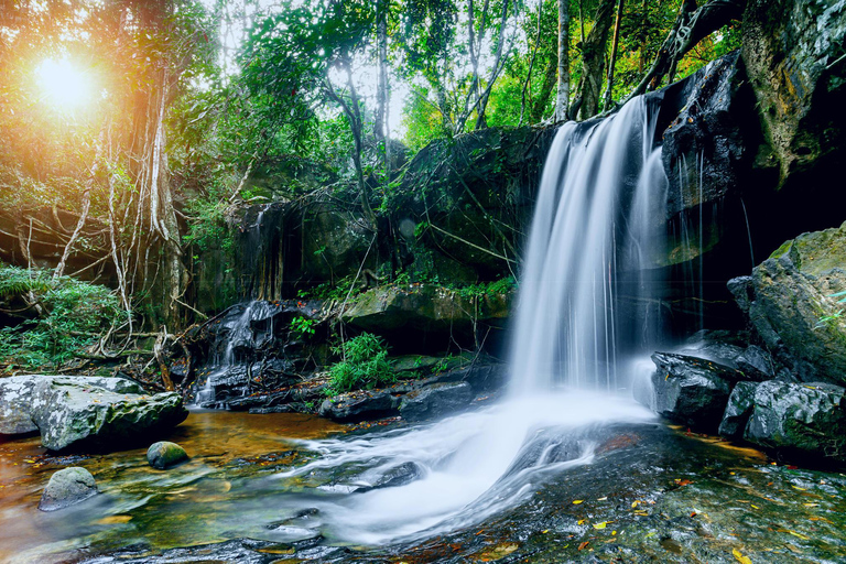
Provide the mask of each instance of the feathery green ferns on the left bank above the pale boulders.
{"label": "feathery green ferns on the left bank above the pale boulders", "polygon": [[0,300],[30,292],[43,314],[0,329],[0,359],[4,362],[56,368],[95,343],[98,333],[124,315],[118,299],[105,286],[69,276],[53,283],[47,271],[0,267]]}

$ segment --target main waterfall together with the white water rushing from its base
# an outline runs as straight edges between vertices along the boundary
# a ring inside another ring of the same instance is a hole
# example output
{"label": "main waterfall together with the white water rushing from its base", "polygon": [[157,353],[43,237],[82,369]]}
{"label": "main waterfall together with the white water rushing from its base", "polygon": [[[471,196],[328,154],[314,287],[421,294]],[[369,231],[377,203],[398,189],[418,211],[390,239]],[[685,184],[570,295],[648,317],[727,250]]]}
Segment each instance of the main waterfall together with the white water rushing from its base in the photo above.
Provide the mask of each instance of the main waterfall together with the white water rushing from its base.
{"label": "main waterfall together with the white water rushing from its base", "polygon": [[[589,464],[611,423],[653,414],[615,397],[617,357],[654,338],[646,307],[665,198],[654,120],[642,98],[619,113],[561,128],[544,166],[520,283],[511,382],[499,405],[431,425],[358,438],[304,442],[314,462],[276,476],[302,489],[282,508],[317,508],[308,521],[327,538],[386,544],[474,525],[531,496],[550,476]],[[566,390],[553,391],[561,381]],[[582,388],[582,389],[579,389]],[[599,390],[601,391],[599,391]],[[408,485],[356,492],[412,464]],[[351,477],[349,477],[351,475]],[[293,522],[293,521],[292,521]],[[280,539],[316,534],[283,525]]]}

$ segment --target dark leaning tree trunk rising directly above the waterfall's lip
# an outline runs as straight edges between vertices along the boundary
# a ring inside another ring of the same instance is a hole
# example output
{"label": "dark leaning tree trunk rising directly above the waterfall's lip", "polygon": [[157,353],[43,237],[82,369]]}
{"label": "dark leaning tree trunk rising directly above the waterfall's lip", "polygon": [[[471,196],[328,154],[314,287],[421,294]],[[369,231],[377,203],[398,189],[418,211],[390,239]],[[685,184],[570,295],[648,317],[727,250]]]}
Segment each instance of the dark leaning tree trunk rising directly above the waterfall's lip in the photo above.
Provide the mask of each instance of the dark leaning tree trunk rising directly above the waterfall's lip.
{"label": "dark leaning tree trunk rising directly above the waterfall's lip", "polygon": [[611,29],[614,0],[599,0],[594,26],[582,45],[582,79],[578,84],[578,99],[571,113],[578,112],[579,119],[596,116],[599,110],[599,93],[605,69],[605,48]]}

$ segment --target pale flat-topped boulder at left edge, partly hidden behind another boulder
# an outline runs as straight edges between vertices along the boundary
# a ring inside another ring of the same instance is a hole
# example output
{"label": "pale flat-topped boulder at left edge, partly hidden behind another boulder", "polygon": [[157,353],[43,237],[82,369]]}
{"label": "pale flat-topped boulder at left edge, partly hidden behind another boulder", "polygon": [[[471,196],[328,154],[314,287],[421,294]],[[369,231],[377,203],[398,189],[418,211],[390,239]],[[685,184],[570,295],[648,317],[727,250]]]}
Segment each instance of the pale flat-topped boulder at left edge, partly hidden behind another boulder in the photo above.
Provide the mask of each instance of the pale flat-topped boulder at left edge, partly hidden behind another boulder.
{"label": "pale flat-topped boulder at left edge, partly hidden behind another boulder", "polygon": [[54,381],[97,387],[116,393],[144,393],[144,389],[141,386],[123,378],[55,377],[42,375],[2,378],[0,379],[0,434],[18,435],[37,431],[39,427],[32,420],[33,392],[36,386]]}

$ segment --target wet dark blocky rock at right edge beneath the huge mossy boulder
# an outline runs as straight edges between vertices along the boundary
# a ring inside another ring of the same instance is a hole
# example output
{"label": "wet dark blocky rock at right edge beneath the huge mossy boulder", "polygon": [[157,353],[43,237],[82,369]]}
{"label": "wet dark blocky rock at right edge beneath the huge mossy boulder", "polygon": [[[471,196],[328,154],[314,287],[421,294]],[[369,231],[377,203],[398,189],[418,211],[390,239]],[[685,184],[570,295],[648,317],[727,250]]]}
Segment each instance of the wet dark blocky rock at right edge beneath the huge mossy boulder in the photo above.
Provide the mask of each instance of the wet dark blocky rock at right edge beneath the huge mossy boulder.
{"label": "wet dark blocky rock at right edge beneath the huge mossy boulder", "polygon": [[755,389],[744,438],[785,456],[846,460],[846,389],[768,381]]}

